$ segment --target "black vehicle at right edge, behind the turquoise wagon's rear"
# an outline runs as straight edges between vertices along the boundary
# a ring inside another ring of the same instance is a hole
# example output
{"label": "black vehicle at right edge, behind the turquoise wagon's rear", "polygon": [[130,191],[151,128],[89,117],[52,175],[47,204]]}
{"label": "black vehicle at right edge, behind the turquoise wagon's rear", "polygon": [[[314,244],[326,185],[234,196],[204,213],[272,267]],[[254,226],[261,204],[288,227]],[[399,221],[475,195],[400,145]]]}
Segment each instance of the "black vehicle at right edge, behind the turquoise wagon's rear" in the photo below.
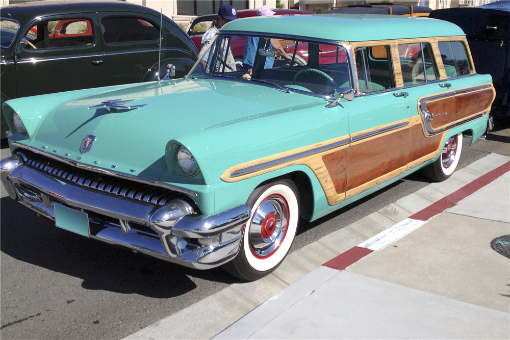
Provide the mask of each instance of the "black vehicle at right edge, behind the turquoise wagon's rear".
{"label": "black vehicle at right edge, behind the turquoise wagon's rear", "polygon": [[476,72],[492,75],[491,114],[510,117],[510,1],[435,10],[430,17],[453,22],[466,33]]}

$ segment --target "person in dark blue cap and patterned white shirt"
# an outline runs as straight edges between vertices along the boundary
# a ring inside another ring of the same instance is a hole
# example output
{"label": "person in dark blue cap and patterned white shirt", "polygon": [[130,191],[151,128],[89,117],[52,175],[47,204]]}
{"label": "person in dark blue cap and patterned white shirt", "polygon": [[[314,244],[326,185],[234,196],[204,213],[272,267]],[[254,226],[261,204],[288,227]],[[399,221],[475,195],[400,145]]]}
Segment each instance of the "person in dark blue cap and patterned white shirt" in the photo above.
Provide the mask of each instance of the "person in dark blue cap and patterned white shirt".
{"label": "person in dark blue cap and patterned white shirt", "polygon": [[[218,33],[219,29],[223,27],[223,25],[229,21],[237,19],[237,10],[234,6],[231,5],[221,5],[218,9],[218,16],[213,19],[213,23],[209,30],[202,36],[202,41],[200,42],[200,53],[198,54],[201,57],[203,54],[206,55],[203,60],[207,60],[209,50],[207,49],[214,36]],[[224,45],[224,46],[223,46]],[[232,50],[228,47],[227,50],[227,42],[222,43],[223,53],[227,53],[226,64],[224,65],[224,72],[232,72],[236,70],[236,61],[234,60],[234,56],[232,55]]]}

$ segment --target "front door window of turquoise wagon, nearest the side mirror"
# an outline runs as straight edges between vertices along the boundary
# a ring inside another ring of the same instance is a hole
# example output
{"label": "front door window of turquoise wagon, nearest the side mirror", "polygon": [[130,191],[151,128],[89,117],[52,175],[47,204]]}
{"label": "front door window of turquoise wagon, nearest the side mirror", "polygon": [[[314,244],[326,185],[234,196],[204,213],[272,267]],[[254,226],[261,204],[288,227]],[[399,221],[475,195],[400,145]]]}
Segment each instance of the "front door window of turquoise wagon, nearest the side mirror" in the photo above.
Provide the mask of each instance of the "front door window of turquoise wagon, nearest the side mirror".
{"label": "front door window of turquoise wagon, nearest the side mirror", "polygon": [[395,87],[390,46],[357,47],[354,50],[360,92]]}

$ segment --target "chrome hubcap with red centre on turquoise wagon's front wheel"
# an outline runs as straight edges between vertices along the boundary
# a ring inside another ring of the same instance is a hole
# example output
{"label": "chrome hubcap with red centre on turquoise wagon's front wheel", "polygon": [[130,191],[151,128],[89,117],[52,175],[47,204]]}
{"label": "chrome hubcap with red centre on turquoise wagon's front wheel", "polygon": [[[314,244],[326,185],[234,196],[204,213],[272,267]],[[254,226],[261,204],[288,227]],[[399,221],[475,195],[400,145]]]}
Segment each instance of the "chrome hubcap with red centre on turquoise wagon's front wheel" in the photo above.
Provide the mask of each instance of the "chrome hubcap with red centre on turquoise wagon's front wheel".
{"label": "chrome hubcap with red centre on turquoise wagon's front wheel", "polygon": [[253,255],[271,256],[282,244],[289,225],[289,206],[283,196],[267,197],[253,214],[248,233]]}

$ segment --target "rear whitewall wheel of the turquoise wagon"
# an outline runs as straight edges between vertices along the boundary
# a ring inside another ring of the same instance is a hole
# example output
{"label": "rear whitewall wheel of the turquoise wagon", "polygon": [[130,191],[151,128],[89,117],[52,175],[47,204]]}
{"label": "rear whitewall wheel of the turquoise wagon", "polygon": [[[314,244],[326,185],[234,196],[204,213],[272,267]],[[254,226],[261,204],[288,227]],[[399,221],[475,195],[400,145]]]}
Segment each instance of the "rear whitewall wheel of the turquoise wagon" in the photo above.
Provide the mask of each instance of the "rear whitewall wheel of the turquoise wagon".
{"label": "rear whitewall wheel of the turquoise wagon", "polygon": [[423,174],[436,182],[451,176],[461,158],[462,133],[448,138],[441,150],[441,155],[432,164],[423,168]]}

